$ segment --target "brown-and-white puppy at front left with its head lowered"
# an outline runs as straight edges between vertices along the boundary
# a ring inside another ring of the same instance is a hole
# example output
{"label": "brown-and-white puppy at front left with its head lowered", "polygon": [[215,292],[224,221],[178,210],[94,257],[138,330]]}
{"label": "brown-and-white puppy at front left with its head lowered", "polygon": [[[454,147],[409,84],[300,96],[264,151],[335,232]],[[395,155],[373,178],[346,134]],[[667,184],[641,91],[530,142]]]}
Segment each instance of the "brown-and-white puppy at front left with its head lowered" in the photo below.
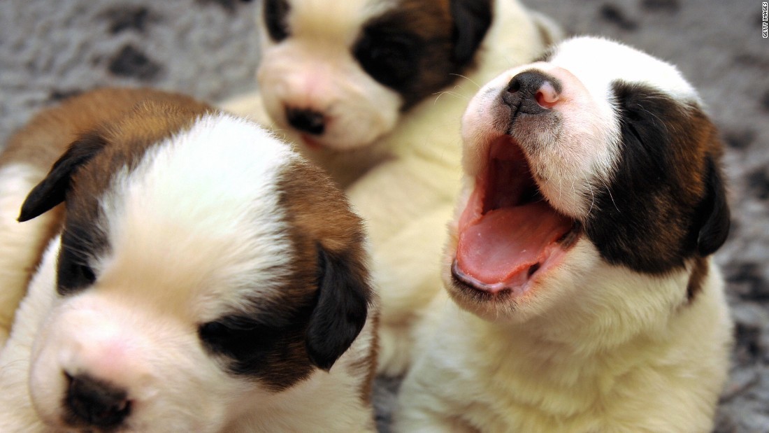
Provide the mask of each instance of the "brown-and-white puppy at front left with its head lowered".
{"label": "brown-and-white puppy at front left with its head lowered", "polygon": [[0,431],[374,431],[364,234],[319,169],[189,98],[103,90],[16,135],[4,205],[57,152],[18,218],[45,227],[3,245],[39,265]]}

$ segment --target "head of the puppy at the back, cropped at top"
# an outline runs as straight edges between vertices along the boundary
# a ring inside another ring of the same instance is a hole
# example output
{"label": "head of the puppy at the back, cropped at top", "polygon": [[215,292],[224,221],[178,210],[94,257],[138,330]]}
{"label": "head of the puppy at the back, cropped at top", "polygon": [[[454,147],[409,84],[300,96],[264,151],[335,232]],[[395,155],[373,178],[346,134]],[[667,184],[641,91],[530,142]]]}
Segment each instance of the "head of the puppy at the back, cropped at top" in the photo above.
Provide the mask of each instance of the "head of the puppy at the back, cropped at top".
{"label": "head of the puppy at the back, cropped at top", "polygon": [[265,106],[305,142],[371,144],[454,81],[491,24],[491,0],[265,0]]}

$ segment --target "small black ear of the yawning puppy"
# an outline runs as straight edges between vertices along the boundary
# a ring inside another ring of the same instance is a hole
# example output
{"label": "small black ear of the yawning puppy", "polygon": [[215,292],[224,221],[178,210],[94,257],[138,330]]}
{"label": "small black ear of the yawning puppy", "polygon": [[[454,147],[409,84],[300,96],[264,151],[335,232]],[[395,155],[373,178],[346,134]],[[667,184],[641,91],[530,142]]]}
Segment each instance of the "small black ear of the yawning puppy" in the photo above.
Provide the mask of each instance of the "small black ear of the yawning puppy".
{"label": "small black ear of the yawning puppy", "polygon": [[723,175],[712,158],[707,158],[705,197],[700,205],[701,226],[697,235],[697,252],[705,257],[724,245],[729,235],[730,213]]}

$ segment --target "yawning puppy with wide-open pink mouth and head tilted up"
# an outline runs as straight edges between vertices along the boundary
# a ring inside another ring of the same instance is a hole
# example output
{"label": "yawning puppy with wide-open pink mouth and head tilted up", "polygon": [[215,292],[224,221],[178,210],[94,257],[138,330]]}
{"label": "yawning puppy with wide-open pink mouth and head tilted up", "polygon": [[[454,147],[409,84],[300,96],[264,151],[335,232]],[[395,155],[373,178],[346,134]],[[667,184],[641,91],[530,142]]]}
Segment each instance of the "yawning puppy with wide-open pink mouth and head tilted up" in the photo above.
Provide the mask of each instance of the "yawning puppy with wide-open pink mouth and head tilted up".
{"label": "yawning puppy with wide-open pink mouth and head tilted up", "polygon": [[444,283],[400,431],[711,431],[732,324],[722,147],[674,66],[598,38],[462,121]]}

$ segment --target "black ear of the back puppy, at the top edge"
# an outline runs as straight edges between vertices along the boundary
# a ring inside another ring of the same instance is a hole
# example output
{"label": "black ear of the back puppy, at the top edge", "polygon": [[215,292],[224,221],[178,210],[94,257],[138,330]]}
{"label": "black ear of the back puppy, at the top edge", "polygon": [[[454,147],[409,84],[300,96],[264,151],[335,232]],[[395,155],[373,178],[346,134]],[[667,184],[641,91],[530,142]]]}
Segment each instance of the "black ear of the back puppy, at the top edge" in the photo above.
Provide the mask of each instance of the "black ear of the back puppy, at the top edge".
{"label": "black ear of the back puppy, at the top edge", "polygon": [[454,19],[452,60],[464,65],[472,60],[491,25],[491,0],[451,0],[450,7]]}

